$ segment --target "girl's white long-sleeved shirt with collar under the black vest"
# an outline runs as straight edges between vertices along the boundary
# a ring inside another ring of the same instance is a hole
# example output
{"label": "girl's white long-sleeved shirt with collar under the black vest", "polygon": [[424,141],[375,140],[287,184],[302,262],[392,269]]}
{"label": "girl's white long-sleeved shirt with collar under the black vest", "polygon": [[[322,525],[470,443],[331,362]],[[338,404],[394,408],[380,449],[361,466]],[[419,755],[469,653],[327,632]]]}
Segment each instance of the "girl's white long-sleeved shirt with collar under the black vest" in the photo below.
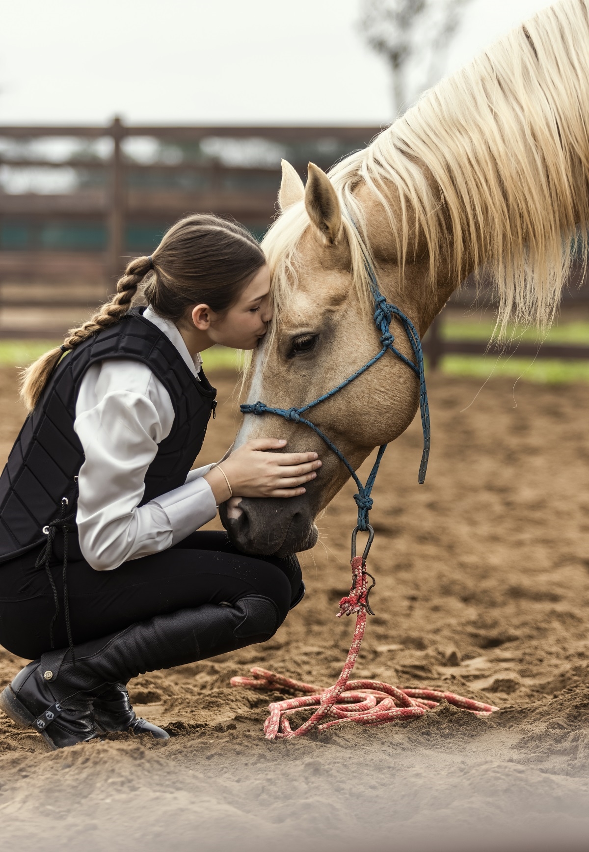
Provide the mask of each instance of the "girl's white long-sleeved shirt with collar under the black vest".
{"label": "girl's white long-sleeved shirt with collar under the black vest", "polygon": [[[197,376],[201,357],[192,359],[174,323],[152,308],[143,316],[169,337]],[[184,485],[139,506],[147,469],[173,423],[169,393],[145,364],[106,360],[86,371],[74,421],[85,455],[76,521],[80,550],[97,571],[167,550],[216,515],[203,479],[213,464],[191,470]]]}

